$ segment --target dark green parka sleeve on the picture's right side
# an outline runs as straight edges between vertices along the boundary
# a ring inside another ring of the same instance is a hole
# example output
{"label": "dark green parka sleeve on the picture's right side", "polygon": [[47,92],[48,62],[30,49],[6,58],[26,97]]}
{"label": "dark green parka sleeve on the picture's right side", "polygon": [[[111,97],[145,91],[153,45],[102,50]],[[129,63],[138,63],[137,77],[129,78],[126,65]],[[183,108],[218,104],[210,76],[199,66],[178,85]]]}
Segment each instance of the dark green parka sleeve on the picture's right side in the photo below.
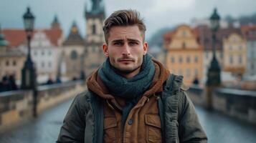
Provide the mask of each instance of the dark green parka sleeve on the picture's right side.
{"label": "dark green parka sleeve on the picture's right side", "polygon": [[193,103],[186,92],[180,91],[179,96],[179,141],[180,142],[207,142],[207,135],[202,129]]}

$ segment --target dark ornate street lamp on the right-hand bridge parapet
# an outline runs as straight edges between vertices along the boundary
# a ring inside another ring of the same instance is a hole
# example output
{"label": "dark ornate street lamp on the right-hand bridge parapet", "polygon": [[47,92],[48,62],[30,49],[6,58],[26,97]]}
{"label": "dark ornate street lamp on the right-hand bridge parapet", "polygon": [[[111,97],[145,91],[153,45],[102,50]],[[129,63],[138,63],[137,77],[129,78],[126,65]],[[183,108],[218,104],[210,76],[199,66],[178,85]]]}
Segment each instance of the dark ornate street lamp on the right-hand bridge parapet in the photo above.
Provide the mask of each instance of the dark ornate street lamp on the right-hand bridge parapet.
{"label": "dark ornate street lamp on the right-hand bridge parapet", "polygon": [[207,72],[207,86],[219,86],[221,83],[220,79],[220,67],[219,62],[216,58],[216,32],[219,29],[220,16],[217,13],[217,9],[214,9],[214,13],[210,17],[211,29],[212,29],[212,61]]}

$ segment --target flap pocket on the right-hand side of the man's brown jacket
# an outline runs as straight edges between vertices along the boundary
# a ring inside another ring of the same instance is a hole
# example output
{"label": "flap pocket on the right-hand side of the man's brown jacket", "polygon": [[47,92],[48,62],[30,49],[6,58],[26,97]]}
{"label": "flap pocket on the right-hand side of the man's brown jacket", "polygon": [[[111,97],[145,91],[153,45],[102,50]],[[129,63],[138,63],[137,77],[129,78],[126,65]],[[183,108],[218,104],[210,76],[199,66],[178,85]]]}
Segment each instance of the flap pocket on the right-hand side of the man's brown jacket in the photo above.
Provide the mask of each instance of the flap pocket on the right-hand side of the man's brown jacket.
{"label": "flap pocket on the right-hand side of the man's brown jacket", "polygon": [[158,114],[145,114],[147,142],[162,142],[161,120]]}

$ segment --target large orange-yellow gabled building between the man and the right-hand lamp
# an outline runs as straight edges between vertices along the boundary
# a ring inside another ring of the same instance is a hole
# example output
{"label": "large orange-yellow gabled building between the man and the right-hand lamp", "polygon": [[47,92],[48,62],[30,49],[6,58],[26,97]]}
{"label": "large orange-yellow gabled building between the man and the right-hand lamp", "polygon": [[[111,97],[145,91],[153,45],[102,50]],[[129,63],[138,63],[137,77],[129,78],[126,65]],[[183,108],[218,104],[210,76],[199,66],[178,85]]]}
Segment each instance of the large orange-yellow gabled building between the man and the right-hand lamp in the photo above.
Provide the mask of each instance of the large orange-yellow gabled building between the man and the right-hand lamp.
{"label": "large orange-yellow gabled building between the man and the right-hand lamp", "polygon": [[199,79],[202,84],[203,49],[194,31],[187,25],[180,25],[164,35],[166,66],[171,73],[184,76],[184,84]]}

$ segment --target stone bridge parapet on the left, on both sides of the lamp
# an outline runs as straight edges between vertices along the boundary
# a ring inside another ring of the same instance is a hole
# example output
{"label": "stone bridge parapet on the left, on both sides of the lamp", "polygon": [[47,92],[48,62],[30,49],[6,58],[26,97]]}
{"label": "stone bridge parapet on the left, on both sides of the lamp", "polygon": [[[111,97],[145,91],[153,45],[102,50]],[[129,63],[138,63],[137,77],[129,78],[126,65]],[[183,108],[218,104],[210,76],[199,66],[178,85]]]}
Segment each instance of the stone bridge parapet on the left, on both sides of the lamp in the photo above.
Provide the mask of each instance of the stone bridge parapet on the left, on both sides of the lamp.
{"label": "stone bridge parapet on the left, on both sides of the lamp", "polygon": [[[37,114],[85,90],[82,81],[37,87]],[[0,92],[0,132],[11,129],[33,117],[32,90]]]}

